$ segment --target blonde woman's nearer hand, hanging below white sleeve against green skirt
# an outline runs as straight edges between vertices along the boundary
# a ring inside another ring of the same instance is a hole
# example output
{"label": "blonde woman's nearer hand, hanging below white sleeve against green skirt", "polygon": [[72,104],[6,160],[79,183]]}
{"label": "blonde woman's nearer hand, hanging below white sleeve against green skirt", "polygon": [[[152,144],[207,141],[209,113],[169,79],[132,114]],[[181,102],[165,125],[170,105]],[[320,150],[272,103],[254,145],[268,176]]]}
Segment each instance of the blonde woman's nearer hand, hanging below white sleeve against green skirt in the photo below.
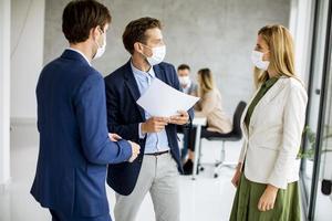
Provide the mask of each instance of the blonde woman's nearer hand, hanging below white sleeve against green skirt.
{"label": "blonde woman's nearer hand, hanging below white sleeve against green skirt", "polygon": [[272,185],[268,185],[266,191],[259,199],[258,210],[261,212],[272,210],[274,208],[278,188]]}

